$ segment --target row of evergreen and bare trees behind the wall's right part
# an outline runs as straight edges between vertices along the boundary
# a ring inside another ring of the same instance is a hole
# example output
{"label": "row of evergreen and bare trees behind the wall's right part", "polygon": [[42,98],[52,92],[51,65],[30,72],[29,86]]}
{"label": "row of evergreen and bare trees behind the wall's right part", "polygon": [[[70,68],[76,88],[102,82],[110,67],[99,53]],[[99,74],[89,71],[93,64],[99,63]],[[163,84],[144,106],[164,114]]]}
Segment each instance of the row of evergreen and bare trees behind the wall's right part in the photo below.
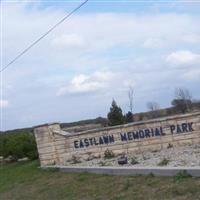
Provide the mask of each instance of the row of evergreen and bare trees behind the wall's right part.
{"label": "row of evergreen and bare trees behind the wall's right part", "polygon": [[115,126],[124,123],[130,123],[134,121],[139,121],[143,119],[152,119],[173,114],[184,114],[194,110],[195,105],[200,109],[200,102],[195,102],[192,99],[190,91],[186,88],[176,88],[174,92],[174,99],[171,101],[172,107],[166,109],[160,109],[157,102],[152,101],[147,103],[147,109],[149,112],[139,113],[138,119],[136,119],[136,114],[133,113],[134,108],[134,90],[130,86],[128,90],[128,101],[129,101],[129,111],[123,114],[120,106],[113,99],[110,107],[110,111],[107,114],[108,125]]}

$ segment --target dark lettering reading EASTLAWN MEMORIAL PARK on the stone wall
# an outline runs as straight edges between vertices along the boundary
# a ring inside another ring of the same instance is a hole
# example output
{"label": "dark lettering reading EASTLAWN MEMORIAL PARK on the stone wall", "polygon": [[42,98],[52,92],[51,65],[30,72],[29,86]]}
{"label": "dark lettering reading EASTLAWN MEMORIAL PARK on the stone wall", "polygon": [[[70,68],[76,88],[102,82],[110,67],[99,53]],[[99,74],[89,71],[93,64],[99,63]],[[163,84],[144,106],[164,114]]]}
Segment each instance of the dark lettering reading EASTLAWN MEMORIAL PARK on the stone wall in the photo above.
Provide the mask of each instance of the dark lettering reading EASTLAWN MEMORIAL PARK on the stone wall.
{"label": "dark lettering reading EASTLAWN MEMORIAL PARK on the stone wall", "polygon": [[[171,134],[179,134],[179,133],[186,133],[186,132],[192,132],[194,129],[192,128],[193,122],[191,123],[182,123],[177,125],[170,125],[170,131]],[[120,140],[122,142],[129,141],[129,140],[137,140],[137,139],[143,139],[143,138],[150,138],[155,136],[164,136],[166,135],[163,132],[163,128],[147,128],[147,129],[141,129],[137,131],[130,131],[125,133],[120,133]],[[102,145],[102,144],[109,144],[114,143],[115,138],[114,135],[103,135],[100,137],[92,137],[92,138],[85,138],[80,140],[74,141],[74,147],[77,148],[84,148],[89,147],[93,145]]]}

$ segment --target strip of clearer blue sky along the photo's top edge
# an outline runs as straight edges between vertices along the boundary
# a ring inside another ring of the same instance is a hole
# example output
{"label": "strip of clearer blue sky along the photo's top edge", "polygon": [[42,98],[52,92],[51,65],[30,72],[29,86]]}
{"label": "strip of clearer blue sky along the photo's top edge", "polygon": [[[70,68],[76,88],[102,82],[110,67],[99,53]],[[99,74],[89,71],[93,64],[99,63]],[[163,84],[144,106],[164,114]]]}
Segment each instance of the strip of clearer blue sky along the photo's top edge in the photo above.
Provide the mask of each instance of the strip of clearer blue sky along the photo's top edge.
{"label": "strip of clearer blue sky along the photo's top edge", "polygon": [[[68,10],[83,1],[38,1],[38,8],[54,8]],[[33,8],[34,5],[28,5]],[[89,0],[87,6],[82,8],[79,13],[85,12],[115,12],[115,13],[192,13],[199,14],[199,1],[197,0]]]}

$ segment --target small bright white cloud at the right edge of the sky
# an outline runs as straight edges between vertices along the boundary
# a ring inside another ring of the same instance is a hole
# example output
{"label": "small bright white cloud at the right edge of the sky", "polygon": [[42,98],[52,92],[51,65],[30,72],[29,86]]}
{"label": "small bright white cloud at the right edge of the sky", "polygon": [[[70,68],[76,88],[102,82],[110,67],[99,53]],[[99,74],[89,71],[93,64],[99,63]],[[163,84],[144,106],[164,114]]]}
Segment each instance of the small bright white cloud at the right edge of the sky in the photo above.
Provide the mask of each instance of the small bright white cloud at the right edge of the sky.
{"label": "small bright white cloud at the right edge of the sky", "polygon": [[190,51],[176,51],[167,56],[167,61],[172,64],[195,64],[200,62],[200,54]]}

